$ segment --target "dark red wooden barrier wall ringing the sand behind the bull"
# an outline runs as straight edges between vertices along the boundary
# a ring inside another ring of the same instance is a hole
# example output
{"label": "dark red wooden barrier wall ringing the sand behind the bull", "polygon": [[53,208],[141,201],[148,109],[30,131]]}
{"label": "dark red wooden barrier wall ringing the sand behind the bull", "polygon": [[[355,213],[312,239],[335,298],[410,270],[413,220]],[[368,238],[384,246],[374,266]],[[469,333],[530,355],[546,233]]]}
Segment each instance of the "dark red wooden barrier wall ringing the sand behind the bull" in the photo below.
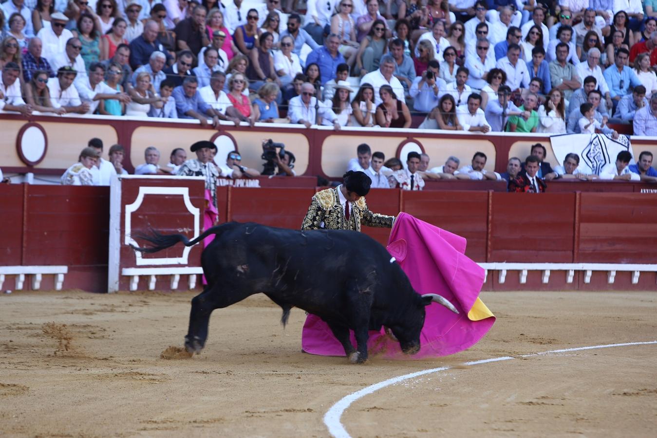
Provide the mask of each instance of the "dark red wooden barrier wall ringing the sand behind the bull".
{"label": "dark red wooden barrier wall ringing the sand behind the bull", "polygon": [[[221,187],[217,193],[219,220],[298,229],[315,190]],[[201,201],[200,194],[193,198],[194,203]],[[158,202],[161,200],[152,198],[144,208],[156,213]],[[478,262],[657,261],[657,194],[557,192],[533,196],[492,191],[373,190],[367,202],[373,211],[392,215],[407,211],[464,236],[468,239],[466,254]],[[0,203],[4,219],[0,265],[67,265],[64,288],[106,290],[108,188],[2,185]],[[140,227],[175,230],[182,226],[168,214],[139,213]],[[386,244],[387,229],[363,230]],[[566,285],[562,271],[552,275],[549,286],[541,284],[539,272],[530,272],[526,284],[518,282],[517,273],[509,274],[504,284],[489,275],[486,287],[656,290],[657,281],[655,273],[643,273],[639,284],[631,284],[630,273],[618,272],[616,282],[608,285],[606,273],[594,272],[589,284],[576,274],[574,284]],[[41,288],[52,287],[51,276],[44,276]]]}

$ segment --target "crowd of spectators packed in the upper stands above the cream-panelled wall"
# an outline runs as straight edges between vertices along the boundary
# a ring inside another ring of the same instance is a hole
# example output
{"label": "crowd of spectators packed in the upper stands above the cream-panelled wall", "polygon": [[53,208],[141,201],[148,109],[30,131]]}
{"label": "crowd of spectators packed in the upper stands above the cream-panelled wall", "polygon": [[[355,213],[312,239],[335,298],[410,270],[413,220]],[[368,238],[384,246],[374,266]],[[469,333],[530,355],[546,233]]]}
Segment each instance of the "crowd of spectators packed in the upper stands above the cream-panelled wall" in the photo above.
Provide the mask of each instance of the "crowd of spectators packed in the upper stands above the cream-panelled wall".
{"label": "crowd of spectators packed in the upper stands above the cream-panelled wall", "polygon": [[[657,135],[652,1],[301,7],[6,0],[0,110],[334,129],[408,128],[411,114],[424,114],[422,127],[479,133],[616,135],[607,125],[614,120]],[[588,115],[583,104],[593,106]]]}

